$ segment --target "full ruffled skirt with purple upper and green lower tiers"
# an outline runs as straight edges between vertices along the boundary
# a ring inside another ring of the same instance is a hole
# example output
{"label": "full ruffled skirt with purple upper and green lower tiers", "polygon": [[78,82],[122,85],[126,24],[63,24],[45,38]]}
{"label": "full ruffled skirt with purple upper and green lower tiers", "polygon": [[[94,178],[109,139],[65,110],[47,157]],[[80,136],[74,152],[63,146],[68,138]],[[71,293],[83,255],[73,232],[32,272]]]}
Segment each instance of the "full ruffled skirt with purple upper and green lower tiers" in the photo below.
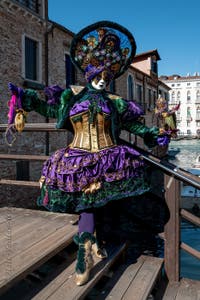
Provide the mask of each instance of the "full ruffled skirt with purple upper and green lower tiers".
{"label": "full ruffled skirt with purple upper and green lower tiers", "polygon": [[[99,152],[64,148],[45,163],[38,204],[51,211],[76,213],[149,190],[144,162],[136,150],[120,145]],[[85,189],[96,183],[94,193]]]}

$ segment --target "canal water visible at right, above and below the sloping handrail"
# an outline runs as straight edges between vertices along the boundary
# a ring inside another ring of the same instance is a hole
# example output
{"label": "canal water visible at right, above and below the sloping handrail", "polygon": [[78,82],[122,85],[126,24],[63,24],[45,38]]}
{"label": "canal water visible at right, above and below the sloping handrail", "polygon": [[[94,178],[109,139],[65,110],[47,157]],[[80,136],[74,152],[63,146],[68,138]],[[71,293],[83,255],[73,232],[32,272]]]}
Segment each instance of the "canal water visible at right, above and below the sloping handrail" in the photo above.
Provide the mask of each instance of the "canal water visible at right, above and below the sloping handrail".
{"label": "canal water visible at right, above and below the sloping handrail", "polygon": [[[171,162],[185,170],[192,167],[197,155],[200,154],[200,140],[198,139],[171,141],[170,147],[180,149]],[[182,222],[181,240],[200,251],[200,227],[189,222]],[[181,251],[181,276],[200,280],[200,260],[185,251]]]}

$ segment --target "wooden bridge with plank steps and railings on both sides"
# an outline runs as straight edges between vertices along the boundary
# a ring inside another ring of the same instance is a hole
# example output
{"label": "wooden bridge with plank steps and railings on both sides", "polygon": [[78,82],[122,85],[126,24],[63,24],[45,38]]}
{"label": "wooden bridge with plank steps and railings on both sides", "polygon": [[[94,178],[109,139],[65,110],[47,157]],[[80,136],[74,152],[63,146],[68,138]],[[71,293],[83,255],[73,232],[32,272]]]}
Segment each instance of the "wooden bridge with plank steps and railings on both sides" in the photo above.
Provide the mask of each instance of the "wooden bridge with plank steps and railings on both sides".
{"label": "wooden bridge with plank steps and railings on both sides", "polygon": [[[1,127],[4,130],[4,127]],[[26,130],[32,131],[27,125]],[[52,124],[38,130],[54,131]],[[141,150],[142,151],[142,150]],[[180,209],[180,181],[200,189],[196,176],[142,151],[143,157],[164,175],[170,220],[160,235],[164,258],[141,255],[125,261],[128,245],[108,245],[108,258],[95,260],[89,282],[74,283],[77,215],[51,213],[11,206],[0,208],[0,299],[164,299],[199,300],[200,278],[180,278],[180,249],[200,259],[200,252],[181,241],[180,221],[200,225],[200,219]],[[1,154],[0,159],[45,160],[47,156]],[[1,178],[1,185],[39,188],[37,182]],[[197,237],[198,238],[198,237]],[[199,276],[200,277],[200,276]]]}

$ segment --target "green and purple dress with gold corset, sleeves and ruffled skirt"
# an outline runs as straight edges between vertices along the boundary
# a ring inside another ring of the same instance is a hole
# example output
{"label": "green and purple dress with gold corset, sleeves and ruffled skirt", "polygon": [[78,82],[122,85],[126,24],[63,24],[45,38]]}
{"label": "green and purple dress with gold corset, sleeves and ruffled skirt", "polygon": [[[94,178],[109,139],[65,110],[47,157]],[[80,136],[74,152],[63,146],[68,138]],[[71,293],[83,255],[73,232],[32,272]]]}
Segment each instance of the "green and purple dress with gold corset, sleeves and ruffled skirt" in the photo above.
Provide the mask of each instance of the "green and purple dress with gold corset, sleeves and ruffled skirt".
{"label": "green and purple dress with gold corset, sleeves and ruffled skirt", "polygon": [[26,111],[57,118],[57,128],[74,133],[72,143],[44,163],[39,205],[79,213],[149,190],[140,153],[118,142],[121,130],[127,130],[149,147],[163,143],[158,128],[140,121],[143,112],[134,101],[88,84],[78,92],[76,88],[62,91],[54,103],[26,90],[22,105]]}

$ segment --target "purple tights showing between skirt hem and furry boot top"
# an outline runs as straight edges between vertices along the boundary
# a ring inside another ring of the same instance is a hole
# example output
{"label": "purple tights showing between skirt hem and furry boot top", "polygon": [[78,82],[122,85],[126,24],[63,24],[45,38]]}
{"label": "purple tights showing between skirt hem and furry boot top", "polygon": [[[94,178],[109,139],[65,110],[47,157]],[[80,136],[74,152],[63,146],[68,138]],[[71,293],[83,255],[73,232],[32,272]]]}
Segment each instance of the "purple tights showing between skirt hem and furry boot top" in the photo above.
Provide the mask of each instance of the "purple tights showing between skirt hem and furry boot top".
{"label": "purple tights showing between skirt hem and furry boot top", "polygon": [[80,214],[78,222],[78,232],[94,233],[94,214],[83,212]]}

